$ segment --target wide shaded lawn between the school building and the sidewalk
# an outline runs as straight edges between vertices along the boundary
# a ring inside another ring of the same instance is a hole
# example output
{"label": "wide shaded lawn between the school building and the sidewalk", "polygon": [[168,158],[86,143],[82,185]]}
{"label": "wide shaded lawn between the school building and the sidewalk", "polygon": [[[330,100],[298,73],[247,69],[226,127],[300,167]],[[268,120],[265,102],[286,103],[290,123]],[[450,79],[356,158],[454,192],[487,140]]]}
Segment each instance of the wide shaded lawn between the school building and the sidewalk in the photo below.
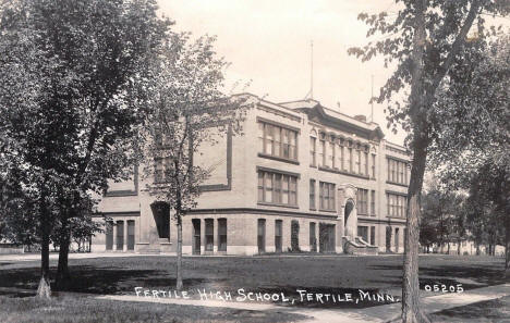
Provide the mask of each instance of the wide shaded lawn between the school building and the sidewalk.
{"label": "wide shaded lawn between the school building and the sidewalk", "polygon": [[[56,261],[51,262],[53,272],[56,264]],[[39,281],[38,266],[38,261],[0,262],[0,287],[35,290]],[[501,258],[423,256],[420,258],[420,283],[422,288],[426,284],[462,284],[464,289],[497,285],[506,282],[502,269]],[[137,286],[173,290],[175,285],[175,257],[70,259],[70,271],[69,290],[76,293],[135,295]],[[186,257],[183,259],[183,276],[184,290],[195,298],[198,298],[197,289],[230,291],[235,297],[239,288],[284,293],[295,299],[300,297],[298,289],[336,295],[359,295],[357,289],[363,289],[400,297],[402,256]],[[293,306],[366,308],[385,302],[389,301],[296,301]]]}

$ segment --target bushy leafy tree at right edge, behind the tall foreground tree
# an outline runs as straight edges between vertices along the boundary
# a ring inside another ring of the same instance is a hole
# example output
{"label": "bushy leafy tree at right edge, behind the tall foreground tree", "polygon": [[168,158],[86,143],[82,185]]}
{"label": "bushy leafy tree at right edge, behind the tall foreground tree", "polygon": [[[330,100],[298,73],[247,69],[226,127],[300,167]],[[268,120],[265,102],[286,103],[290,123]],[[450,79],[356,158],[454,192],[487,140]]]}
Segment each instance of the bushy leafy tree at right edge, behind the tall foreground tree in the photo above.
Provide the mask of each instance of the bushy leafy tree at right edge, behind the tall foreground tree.
{"label": "bushy leafy tree at right edge, behind the tall foreground tree", "polygon": [[[471,53],[471,64],[453,75],[440,94],[441,117],[447,122],[438,127],[432,162],[442,165],[446,185],[469,191],[469,226],[477,244],[488,243],[494,252],[491,246],[498,243],[501,228],[506,250],[510,250],[510,35],[491,34],[493,40],[482,52]],[[477,35],[470,39],[472,46],[478,42]],[[462,125],[450,125],[452,114]],[[507,274],[509,265],[507,257]]]}

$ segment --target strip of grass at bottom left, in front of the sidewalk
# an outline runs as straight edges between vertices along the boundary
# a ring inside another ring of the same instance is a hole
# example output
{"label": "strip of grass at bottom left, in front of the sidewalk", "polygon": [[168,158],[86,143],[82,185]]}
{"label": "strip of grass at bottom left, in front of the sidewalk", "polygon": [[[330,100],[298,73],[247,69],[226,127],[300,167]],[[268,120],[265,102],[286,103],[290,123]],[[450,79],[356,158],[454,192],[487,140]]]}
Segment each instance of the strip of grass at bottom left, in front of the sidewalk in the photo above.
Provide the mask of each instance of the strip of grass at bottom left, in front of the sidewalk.
{"label": "strip of grass at bottom left, in front of the sidewalk", "polygon": [[277,311],[247,311],[226,308],[169,306],[146,302],[97,300],[88,297],[0,296],[2,323],[138,323],[138,322],[298,322],[304,315]]}

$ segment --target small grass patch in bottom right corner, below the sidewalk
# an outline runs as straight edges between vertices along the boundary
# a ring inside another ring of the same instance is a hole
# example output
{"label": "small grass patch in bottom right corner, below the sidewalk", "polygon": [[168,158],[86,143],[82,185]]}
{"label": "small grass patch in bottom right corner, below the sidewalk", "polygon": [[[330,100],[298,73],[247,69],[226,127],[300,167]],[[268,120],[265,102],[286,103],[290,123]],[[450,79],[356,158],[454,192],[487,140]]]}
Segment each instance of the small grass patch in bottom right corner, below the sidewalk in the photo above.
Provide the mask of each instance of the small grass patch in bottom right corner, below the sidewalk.
{"label": "small grass patch in bottom right corner, below the sidewalk", "polygon": [[444,310],[430,315],[434,322],[510,322],[510,296]]}

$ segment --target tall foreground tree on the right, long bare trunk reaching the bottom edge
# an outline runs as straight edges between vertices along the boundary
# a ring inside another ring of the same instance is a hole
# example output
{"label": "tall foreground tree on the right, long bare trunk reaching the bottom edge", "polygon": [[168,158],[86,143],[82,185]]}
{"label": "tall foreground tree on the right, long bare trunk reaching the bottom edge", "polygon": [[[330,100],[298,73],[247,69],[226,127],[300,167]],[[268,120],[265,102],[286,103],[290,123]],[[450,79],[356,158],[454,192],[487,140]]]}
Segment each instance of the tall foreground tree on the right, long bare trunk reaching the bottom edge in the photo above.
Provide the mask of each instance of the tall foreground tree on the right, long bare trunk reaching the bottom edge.
{"label": "tall foreground tree on the right, long bare trunk reaching the bottom edge", "polygon": [[[392,76],[380,88],[379,103],[388,102],[388,122],[401,124],[410,133],[406,142],[413,161],[408,194],[408,234],[405,237],[404,271],[402,282],[402,321],[427,322],[420,310],[418,287],[418,221],[421,191],[430,144],[436,139],[437,119],[442,107],[435,104],[437,91],[451,71],[462,66],[465,59],[467,33],[477,21],[483,29],[481,13],[506,14],[510,10],[505,1],[397,1],[402,4],[396,16],[386,12],[378,15],[360,14],[369,26],[368,35],[385,37],[365,48],[352,48],[351,54],[369,60],[385,55],[385,65],[396,63]],[[481,39],[486,35],[479,33]],[[478,48],[479,50],[479,48]],[[398,95],[410,89],[409,99],[400,101]],[[452,122],[458,121],[454,119]]]}

